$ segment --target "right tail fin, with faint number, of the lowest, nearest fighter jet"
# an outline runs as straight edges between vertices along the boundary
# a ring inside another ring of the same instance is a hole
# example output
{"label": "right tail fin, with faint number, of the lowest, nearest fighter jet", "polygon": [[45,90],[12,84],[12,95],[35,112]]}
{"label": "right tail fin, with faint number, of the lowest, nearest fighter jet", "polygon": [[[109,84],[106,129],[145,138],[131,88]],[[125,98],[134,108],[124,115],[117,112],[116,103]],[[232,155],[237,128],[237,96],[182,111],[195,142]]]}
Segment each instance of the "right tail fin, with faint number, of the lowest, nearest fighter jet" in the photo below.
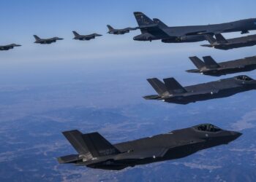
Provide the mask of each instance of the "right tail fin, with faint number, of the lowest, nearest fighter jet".
{"label": "right tail fin, with faint number, of the lowest, nearest fighter jet", "polygon": [[91,132],[83,134],[83,141],[86,143],[91,155],[93,157],[108,156],[119,154],[120,151],[116,149],[109,141],[102,137],[99,132]]}

